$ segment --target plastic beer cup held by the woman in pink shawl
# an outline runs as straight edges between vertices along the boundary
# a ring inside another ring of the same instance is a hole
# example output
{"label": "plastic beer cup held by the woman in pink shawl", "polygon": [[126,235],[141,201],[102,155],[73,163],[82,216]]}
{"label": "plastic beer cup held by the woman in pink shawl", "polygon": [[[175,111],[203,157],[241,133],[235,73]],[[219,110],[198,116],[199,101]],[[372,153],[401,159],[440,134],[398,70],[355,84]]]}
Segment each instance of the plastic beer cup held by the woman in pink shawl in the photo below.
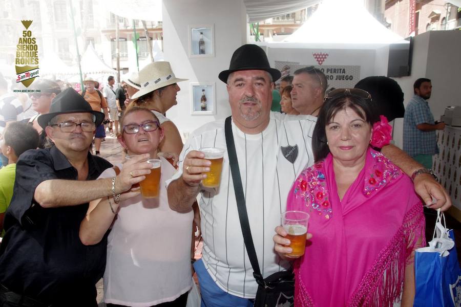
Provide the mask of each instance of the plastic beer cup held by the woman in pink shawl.
{"label": "plastic beer cup held by the woman in pink shawl", "polygon": [[288,257],[301,257],[306,249],[306,233],[309,214],[303,211],[286,211],[282,213],[282,227],[287,232],[292,252]]}

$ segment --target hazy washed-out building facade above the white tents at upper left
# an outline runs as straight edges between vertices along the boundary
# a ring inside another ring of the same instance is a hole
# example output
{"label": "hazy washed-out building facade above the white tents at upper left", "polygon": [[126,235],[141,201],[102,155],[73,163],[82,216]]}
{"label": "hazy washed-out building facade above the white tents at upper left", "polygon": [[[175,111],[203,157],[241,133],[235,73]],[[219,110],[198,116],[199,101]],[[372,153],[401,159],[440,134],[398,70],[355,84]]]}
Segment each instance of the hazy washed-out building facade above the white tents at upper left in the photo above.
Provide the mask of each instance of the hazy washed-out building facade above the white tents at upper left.
{"label": "hazy washed-out building facade above the white tents at upper left", "polygon": [[[72,4],[72,5],[71,5]],[[115,28],[119,26],[120,71],[137,69],[151,62],[149,45],[141,20],[115,16],[98,0],[0,0],[0,71],[14,75],[16,44],[24,27],[20,20],[33,20],[29,30],[36,38],[39,59],[57,55],[65,64],[77,67],[77,48],[80,56],[90,43],[98,56],[110,67],[116,68]],[[76,36],[72,27],[75,24]],[[162,47],[161,21],[146,21],[154,47],[154,40]],[[135,34],[136,33],[136,34]],[[138,59],[134,43],[136,37]]]}

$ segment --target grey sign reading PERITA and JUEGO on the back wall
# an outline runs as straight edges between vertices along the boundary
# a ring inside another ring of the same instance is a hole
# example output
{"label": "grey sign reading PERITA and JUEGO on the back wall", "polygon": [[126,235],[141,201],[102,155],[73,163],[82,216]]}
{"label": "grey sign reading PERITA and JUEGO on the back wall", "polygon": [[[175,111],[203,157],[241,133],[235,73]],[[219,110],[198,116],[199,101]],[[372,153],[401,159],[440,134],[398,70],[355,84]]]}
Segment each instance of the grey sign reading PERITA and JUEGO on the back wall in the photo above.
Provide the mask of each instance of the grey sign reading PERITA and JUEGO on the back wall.
{"label": "grey sign reading PERITA and JUEGO on the back wall", "polygon": [[[275,61],[275,68],[282,72],[282,78],[285,76],[293,76],[294,72],[303,67],[312,65],[300,64],[299,62]],[[328,81],[328,89],[342,89],[354,87],[360,81],[360,66],[359,65],[313,65],[320,69],[326,76]],[[280,82],[280,79],[277,83]]]}

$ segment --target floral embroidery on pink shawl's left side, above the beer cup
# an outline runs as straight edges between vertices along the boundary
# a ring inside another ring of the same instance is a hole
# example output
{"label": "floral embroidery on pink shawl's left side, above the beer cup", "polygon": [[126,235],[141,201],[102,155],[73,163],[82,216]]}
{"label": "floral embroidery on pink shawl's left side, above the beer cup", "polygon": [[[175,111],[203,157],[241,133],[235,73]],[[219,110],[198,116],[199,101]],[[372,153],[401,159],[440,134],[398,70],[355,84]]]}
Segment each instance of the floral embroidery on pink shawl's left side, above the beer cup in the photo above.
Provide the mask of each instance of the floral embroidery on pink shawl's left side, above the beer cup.
{"label": "floral embroidery on pink shawl's left side, above the beer cup", "polygon": [[296,180],[296,198],[305,201],[309,212],[317,212],[329,220],[333,215],[326,188],[323,161],[306,168]]}

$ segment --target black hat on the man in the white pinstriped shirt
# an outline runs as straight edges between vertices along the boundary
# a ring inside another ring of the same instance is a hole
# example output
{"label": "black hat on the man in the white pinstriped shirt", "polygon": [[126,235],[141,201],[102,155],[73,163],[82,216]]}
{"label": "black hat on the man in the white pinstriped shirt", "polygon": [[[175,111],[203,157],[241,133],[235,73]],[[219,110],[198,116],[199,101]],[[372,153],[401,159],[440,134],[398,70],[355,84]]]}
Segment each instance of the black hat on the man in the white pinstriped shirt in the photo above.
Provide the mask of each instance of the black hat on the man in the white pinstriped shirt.
{"label": "black hat on the man in the white pinstriped shirt", "polygon": [[229,74],[242,70],[263,70],[268,72],[273,81],[277,81],[281,73],[275,68],[270,68],[269,60],[266,53],[257,45],[243,45],[239,47],[232,55],[229,69],[219,73],[219,80],[227,83]]}

